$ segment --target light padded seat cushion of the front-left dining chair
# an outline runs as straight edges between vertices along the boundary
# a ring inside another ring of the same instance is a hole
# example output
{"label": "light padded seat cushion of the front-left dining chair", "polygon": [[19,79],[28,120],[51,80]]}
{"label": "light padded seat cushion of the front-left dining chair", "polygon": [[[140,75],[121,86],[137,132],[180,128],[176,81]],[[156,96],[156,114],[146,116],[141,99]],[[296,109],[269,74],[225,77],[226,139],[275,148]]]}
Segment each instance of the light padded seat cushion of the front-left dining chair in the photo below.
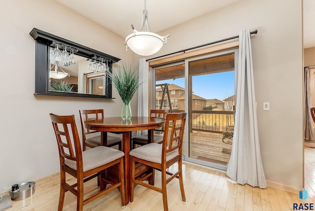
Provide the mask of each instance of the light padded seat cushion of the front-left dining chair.
{"label": "light padded seat cushion of the front-left dining chair", "polygon": [[[106,146],[88,149],[82,152],[83,172],[95,169],[124,156],[124,152]],[[64,164],[73,170],[77,170],[76,161],[65,159]]]}

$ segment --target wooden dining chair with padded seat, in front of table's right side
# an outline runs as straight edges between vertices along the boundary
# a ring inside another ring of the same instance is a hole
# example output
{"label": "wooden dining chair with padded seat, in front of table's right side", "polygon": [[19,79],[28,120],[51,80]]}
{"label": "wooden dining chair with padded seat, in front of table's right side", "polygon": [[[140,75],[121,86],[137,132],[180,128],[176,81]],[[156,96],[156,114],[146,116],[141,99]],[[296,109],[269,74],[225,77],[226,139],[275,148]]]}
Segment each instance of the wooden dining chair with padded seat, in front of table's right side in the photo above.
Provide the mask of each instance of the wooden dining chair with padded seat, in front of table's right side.
{"label": "wooden dining chair with padded seat, in front of table's right side", "polygon": [[[183,203],[186,202],[183,170],[182,170],[182,151],[184,127],[187,112],[184,113],[167,113],[162,144],[149,143],[130,151],[131,167],[131,196],[130,203],[133,203],[134,188],[139,184],[144,187],[162,193],[164,211],[168,211],[166,185],[175,177],[179,178],[179,184],[182,194]],[[161,188],[144,182],[148,176],[135,178],[135,163],[142,163],[161,171]],[[167,172],[166,169],[171,165],[178,163],[178,171],[175,173]],[[168,175],[168,176],[167,176]]]}

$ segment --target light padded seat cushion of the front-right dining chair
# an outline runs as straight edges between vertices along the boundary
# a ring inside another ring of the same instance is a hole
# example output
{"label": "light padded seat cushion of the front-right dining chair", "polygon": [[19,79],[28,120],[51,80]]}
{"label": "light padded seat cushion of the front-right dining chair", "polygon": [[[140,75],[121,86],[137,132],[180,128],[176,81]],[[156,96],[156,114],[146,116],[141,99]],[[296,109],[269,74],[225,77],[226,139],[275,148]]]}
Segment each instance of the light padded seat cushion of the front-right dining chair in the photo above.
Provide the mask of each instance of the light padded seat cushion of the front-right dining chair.
{"label": "light padded seat cushion of the front-right dining chair", "polygon": [[[138,148],[132,149],[129,155],[147,160],[154,163],[161,163],[162,161],[162,145],[158,143],[149,143]],[[166,154],[166,162],[175,158],[178,153],[178,149]]]}

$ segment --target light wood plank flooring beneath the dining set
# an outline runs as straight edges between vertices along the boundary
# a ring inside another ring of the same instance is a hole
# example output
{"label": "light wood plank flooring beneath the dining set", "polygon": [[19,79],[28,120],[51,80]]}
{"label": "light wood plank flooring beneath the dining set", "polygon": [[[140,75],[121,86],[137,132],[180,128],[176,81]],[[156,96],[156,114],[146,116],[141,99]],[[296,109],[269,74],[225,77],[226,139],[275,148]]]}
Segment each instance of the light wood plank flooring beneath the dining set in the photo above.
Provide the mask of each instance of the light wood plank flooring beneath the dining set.
{"label": "light wood plank flooring beneath the dining set", "polygon": [[[315,203],[315,148],[305,147],[305,188],[309,191],[306,201],[298,193],[267,187],[260,189],[236,184],[225,173],[184,162],[186,204],[181,201],[179,182],[173,179],[167,185],[170,211],[289,211],[293,203]],[[172,170],[172,169],[171,169]],[[37,181],[35,193],[23,201],[12,202],[7,211],[56,211],[59,200],[59,174]],[[72,179],[73,180],[73,179]],[[73,181],[74,182],[74,181]],[[160,173],[156,172],[156,184]],[[98,191],[96,179],[85,186],[87,194]],[[76,198],[65,194],[64,211],[76,210]],[[142,186],[135,189],[134,203],[121,208],[117,189],[84,206],[85,211],[162,211],[160,193]]]}

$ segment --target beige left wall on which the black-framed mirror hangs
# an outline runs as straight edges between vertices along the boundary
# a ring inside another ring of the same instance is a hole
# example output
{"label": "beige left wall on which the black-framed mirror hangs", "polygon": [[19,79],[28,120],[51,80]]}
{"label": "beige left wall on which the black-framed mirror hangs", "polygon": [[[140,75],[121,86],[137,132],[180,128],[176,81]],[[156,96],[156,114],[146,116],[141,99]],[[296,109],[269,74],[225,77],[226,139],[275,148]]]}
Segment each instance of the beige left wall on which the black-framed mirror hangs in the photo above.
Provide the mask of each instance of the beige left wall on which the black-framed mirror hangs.
{"label": "beige left wall on which the black-framed mirror hangs", "polygon": [[[59,155],[49,113],[75,114],[79,109],[104,108],[119,116],[121,99],[37,96],[34,93],[33,28],[61,36],[132,62],[124,38],[95,24],[54,0],[0,2],[0,192],[12,184],[32,181],[59,171]],[[132,102],[136,113],[136,99]],[[79,133],[80,127],[78,128]]]}

